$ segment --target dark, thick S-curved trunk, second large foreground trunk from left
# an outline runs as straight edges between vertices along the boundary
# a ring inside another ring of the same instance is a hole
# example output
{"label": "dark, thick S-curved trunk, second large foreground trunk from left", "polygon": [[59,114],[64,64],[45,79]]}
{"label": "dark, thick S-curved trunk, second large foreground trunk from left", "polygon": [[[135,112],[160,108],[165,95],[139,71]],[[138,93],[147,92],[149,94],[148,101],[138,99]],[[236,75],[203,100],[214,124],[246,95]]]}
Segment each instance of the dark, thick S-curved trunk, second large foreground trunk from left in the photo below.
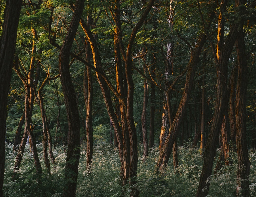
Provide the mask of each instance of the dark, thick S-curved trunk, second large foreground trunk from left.
{"label": "dark, thick S-curved trunk, second large foreground trunk from left", "polygon": [[76,36],[84,7],[84,0],[77,0],[67,35],[59,55],[60,80],[68,117],[68,151],[65,166],[65,186],[63,196],[75,196],[77,189],[78,165],[80,157],[80,121],[76,93],[69,72],[69,53]]}

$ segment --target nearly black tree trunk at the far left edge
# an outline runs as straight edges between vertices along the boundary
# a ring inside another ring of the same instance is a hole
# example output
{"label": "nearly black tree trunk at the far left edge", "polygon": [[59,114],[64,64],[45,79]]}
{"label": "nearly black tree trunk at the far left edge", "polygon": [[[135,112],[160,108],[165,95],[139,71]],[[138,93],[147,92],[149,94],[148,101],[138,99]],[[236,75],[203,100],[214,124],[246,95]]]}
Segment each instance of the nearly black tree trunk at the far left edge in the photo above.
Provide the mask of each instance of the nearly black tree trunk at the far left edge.
{"label": "nearly black tree trunk at the far left edge", "polygon": [[0,196],[3,196],[7,96],[12,76],[22,1],[7,0],[0,39]]}

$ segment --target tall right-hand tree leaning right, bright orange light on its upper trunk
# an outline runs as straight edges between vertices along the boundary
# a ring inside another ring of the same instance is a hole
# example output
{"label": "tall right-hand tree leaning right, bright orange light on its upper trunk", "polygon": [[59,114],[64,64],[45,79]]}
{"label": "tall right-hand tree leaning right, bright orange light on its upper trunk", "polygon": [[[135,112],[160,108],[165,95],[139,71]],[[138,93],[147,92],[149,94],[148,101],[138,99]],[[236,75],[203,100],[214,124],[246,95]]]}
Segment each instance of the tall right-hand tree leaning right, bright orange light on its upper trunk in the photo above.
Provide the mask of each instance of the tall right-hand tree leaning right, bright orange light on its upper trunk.
{"label": "tall right-hand tree leaning right, bright orange light on its upper trunk", "polygon": [[[199,180],[199,186],[196,196],[206,196],[209,191],[210,181],[207,181],[211,175],[214,155],[216,153],[216,145],[218,141],[219,132],[223,122],[223,115],[227,108],[229,93],[228,93],[228,61],[232,52],[234,43],[237,38],[238,24],[233,24],[230,28],[228,36],[224,37],[225,18],[223,13],[226,11],[228,1],[222,0],[219,7],[219,20],[218,20],[218,35],[217,35],[217,48],[216,52],[214,47],[214,57],[216,62],[217,71],[217,92],[216,92],[216,106],[214,117],[212,120],[210,133],[205,148],[204,164],[202,173]],[[237,0],[235,5],[241,5],[241,1]]]}

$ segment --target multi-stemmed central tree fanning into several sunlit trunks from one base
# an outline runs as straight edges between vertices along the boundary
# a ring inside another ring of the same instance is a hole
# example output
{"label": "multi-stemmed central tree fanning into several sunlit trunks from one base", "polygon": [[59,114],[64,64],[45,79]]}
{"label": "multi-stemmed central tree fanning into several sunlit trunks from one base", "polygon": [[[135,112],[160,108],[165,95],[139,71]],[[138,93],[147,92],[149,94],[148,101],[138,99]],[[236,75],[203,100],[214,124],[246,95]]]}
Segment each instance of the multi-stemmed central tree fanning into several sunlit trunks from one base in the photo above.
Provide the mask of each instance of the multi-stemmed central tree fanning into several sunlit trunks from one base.
{"label": "multi-stemmed central tree fanning into several sunlit trunks from one base", "polygon": [[[119,15],[120,9],[119,9],[119,1],[114,2],[113,7],[109,7],[111,14],[113,16],[113,19],[115,21],[115,25],[118,28],[118,31],[115,32],[116,34],[116,43],[118,43],[119,46],[116,45],[116,49],[120,51],[120,54],[122,55],[124,59],[124,68],[125,68],[125,75],[122,77],[122,65],[118,64],[120,55],[118,55],[118,52],[115,52],[116,56],[116,74],[117,80],[117,91],[114,89],[108,78],[103,74],[102,71],[102,62],[100,59],[97,43],[95,42],[95,39],[92,35],[92,32],[89,30],[86,23],[84,23],[83,20],[81,20],[81,26],[86,33],[86,36],[91,44],[92,54],[93,54],[93,61],[94,66],[97,72],[96,76],[98,78],[99,84],[102,89],[103,97],[106,103],[106,107],[110,116],[110,119],[113,123],[114,129],[115,129],[115,135],[118,139],[118,146],[119,146],[119,153],[120,153],[120,160],[121,160],[121,180],[123,184],[126,184],[127,180],[131,178],[130,184],[134,185],[135,178],[136,178],[136,171],[137,171],[137,136],[136,136],[136,129],[134,125],[133,120],[133,89],[134,84],[132,80],[132,63],[131,63],[131,52],[132,52],[132,46],[134,43],[134,39],[136,36],[136,33],[138,29],[141,27],[143,21],[145,20],[148,12],[150,11],[154,1],[150,1],[147,6],[145,6],[145,11],[143,12],[142,17],[140,18],[139,22],[135,25],[133,28],[133,31],[130,36],[129,44],[127,45],[127,49],[125,51],[125,48],[122,43],[122,30],[120,28],[120,20],[116,20],[116,14]],[[115,5],[118,5],[115,8]],[[113,11],[114,10],[114,11]],[[116,12],[116,14],[115,14]],[[119,13],[118,13],[119,12]],[[117,57],[117,55],[119,57]],[[121,72],[120,72],[121,71]],[[124,82],[123,82],[123,79]],[[126,81],[126,82],[125,82]],[[126,86],[127,84],[127,86]],[[119,125],[118,119],[116,117],[116,114],[114,112],[111,96],[109,92],[109,88],[113,91],[115,96],[119,99],[120,102],[120,111],[121,111],[121,122],[122,122],[122,128]],[[135,188],[132,188],[131,195],[137,196],[138,192]]]}

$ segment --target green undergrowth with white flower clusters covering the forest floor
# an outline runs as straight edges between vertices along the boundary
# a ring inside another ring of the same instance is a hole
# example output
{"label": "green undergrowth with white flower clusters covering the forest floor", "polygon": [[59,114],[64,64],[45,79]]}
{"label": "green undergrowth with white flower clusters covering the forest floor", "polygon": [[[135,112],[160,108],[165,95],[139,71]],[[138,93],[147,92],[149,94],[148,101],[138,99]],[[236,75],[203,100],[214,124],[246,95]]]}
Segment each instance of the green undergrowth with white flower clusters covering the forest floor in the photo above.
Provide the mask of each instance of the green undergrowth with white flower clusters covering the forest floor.
{"label": "green undergrowth with white flower clusters covering the forest floor", "polygon": [[[29,145],[23,155],[17,180],[12,180],[16,152],[12,144],[6,144],[4,196],[62,196],[66,153],[64,147],[54,148],[57,165],[51,166],[51,174],[47,174],[44,165],[42,144],[38,146],[42,165],[42,176],[35,172],[33,155]],[[178,167],[173,169],[170,159],[163,174],[155,173],[158,159],[158,148],[150,149],[146,162],[143,162],[143,146],[138,146],[137,185],[140,196],[195,196],[202,170],[202,156],[197,148],[178,147]],[[217,151],[217,155],[219,151]],[[249,150],[251,161],[250,192],[256,196],[256,153]],[[216,157],[217,158],[217,157]],[[223,167],[210,177],[208,196],[235,196],[236,166],[235,154],[231,154],[233,165]],[[215,165],[215,164],[214,164]],[[111,145],[98,144],[93,147],[91,170],[86,169],[86,146],[81,146],[79,173],[76,196],[130,196],[129,186],[120,185],[120,160],[118,149]],[[37,183],[38,178],[40,183]]]}

